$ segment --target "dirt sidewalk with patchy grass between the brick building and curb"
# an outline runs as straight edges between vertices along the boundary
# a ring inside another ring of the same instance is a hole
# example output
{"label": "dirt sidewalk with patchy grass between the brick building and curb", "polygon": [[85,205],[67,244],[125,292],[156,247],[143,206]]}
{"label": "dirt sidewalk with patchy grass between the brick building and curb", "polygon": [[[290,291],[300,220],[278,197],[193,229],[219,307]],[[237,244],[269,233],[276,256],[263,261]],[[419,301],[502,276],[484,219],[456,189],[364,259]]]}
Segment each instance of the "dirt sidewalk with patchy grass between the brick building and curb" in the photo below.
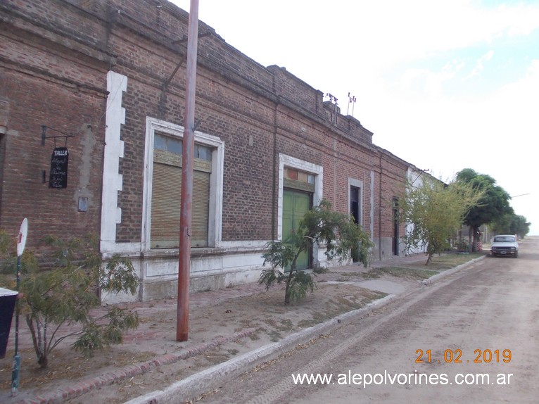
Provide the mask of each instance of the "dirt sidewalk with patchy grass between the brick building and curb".
{"label": "dirt sidewalk with patchy grass between the brick building and curb", "polygon": [[127,307],[137,309],[141,324],[125,335],[124,343],[87,358],[70,349],[72,341],[63,341],[44,370],[37,367],[30,333],[21,322],[19,392],[11,397],[11,335],[6,358],[0,360],[0,401],[125,403],[388,294],[419,290],[424,287],[419,281],[455,265],[425,267],[424,262],[424,255],[414,255],[376,262],[368,270],[359,265],[331,268],[316,275],[314,293],[288,306],[284,289],[265,291],[257,283],[192,293],[186,342],[175,341],[175,300],[130,303]]}

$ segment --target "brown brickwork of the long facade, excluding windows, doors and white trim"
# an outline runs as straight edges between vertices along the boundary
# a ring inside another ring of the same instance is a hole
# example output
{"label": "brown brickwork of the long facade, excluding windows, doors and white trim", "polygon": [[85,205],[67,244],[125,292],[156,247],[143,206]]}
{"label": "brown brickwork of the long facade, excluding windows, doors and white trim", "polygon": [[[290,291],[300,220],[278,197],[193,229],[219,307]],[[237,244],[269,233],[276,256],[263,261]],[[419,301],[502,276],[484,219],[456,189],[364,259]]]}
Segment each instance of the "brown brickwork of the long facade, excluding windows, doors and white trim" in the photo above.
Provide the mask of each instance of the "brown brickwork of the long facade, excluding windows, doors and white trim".
{"label": "brown brickwork of the long facade, excluding windows, doors and white trim", "polygon": [[[27,215],[39,234],[99,233],[106,72],[114,70],[129,77],[117,241],[140,242],[146,117],[183,125],[187,13],[151,0],[8,0],[0,15],[10,21],[0,23],[0,100],[9,106],[1,227],[18,229]],[[391,237],[407,163],[374,146],[359,120],[332,122],[322,92],[286,69],[252,61],[203,23],[199,33],[197,129],[225,144],[222,240],[277,235],[279,153],[322,165],[324,197],[337,210],[348,211],[348,178],[362,181],[364,228]],[[40,182],[53,146],[40,145],[40,125],[75,133],[68,189]],[[77,210],[83,194],[86,213]]]}

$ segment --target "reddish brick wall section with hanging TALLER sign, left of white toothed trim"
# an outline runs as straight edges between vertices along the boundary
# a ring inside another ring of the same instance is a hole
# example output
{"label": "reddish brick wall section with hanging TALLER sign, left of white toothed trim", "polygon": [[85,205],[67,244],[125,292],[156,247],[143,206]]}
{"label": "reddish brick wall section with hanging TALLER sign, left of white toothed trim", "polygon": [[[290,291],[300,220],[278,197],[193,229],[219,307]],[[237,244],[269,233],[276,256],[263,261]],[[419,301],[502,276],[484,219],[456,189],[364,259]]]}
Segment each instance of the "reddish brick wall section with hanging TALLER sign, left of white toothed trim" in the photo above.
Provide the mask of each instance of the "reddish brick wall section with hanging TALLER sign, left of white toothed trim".
{"label": "reddish brick wall section with hanging TALLER sign, left of white toothed trim", "polygon": [[[0,227],[16,234],[27,217],[30,247],[46,234],[99,234],[101,214],[106,108],[105,82],[96,74],[101,62],[49,42],[60,39],[49,31],[56,26],[53,18],[59,13],[47,5],[42,1],[23,4],[24,15],[12,15],[14,25],[7,28],[2,23],[0,30],[0,99],[7,111],[1,140]],[[2,13],[10,7],[4,6]],[[43,18],[42,13],[51,19],[47,30],[30,23],[37,15]],[[42,125],[49,127],[47,136],[62,135],[54,128],[73,137],[67,143],[63,138],[46,139],[42,146]],[[49,179],[55,146],[68,147],[67,189],[50,189],[42,179],[43,170]],[[87,211],[79,211],[79,198],[88,201]]]}

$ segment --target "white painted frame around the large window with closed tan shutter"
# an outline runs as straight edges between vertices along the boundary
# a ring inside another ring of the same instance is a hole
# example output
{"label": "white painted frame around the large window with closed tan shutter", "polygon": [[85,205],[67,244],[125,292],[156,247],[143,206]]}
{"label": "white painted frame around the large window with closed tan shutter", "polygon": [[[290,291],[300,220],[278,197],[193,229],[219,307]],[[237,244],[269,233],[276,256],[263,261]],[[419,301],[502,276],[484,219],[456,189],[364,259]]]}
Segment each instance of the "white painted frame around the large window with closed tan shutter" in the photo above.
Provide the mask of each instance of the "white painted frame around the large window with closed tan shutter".
{"label": "white painted frame around the large window with closed tan shutter", "polygon": [[[153,137],[163,132],[183,139],[184,127],[172,122],[146,117],[146,141],[144,146],[144,187],[142,199],[142,251],[151,249],[151,192],[153,177]],[[219,137],[196,131],[196,143],[213,149],[212,173],[210,175],[210,210],[208,220],[208,248],[220,247],[222,237],[222,188],[224,170],[224,141]]]}

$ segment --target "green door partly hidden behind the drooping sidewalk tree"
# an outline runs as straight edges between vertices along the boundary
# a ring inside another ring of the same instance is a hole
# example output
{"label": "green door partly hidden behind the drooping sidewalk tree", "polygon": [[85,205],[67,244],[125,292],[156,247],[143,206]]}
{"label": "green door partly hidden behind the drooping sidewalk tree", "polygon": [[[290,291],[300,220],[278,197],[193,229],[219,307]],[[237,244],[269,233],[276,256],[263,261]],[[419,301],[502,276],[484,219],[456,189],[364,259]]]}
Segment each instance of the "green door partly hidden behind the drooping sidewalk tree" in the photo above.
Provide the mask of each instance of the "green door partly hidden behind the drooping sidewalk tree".
{"label": "green door partly hidden behind the drooping sidewalk tree", "polygon": [[[300,220],[303,215],[311,208],[310,194],[305,192],[291,191],[290,189],[284,189],[283,192],[283,241],[286,238],[298,230]],[[296,269],[306,270],[310,267],[310,255],[309,251],[303,251],[296,261]],[[285,268],[287,271],[290,267]]]}

